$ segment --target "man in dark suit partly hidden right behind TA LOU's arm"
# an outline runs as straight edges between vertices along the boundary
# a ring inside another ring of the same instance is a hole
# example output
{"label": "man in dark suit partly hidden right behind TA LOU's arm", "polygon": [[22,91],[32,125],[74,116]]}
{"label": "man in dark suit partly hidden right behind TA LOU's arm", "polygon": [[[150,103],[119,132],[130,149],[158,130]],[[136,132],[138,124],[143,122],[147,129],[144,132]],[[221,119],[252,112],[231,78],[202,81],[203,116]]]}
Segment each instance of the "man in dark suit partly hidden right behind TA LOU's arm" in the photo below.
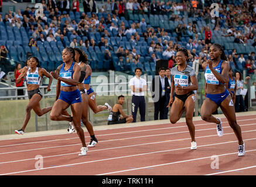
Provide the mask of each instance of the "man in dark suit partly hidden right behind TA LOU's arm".
{"label": "man in dark suit partly hidden right behind TA LOU's arm", "polygon": [[169,104],[170,101],[170,86],[172,85],[172,77],[170,76],[170,69],[165,69],[165,115],[163,119],[168,119],[168,112],[169,108],[166,106]]}

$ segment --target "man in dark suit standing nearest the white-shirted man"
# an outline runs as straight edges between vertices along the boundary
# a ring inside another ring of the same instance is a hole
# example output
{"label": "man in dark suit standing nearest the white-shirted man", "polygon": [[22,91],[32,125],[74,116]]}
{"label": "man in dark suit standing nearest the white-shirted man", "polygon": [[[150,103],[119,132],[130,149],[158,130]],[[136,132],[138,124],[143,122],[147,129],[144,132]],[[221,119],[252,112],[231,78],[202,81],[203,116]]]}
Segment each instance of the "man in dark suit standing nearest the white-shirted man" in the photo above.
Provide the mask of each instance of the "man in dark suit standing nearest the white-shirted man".
{"label": "man in dark suit standing nearest the white-shirted man", "polygon": [[[165,68],[159,68],[159,75],[156,75],[152,80],[151,92],[152,99],[155,106],[154,119],[158,120],[158,114],[160,112],[160,119],[164,119],[165,115],[165,103],[166,103],[166,91],[165,91]],[[168,102],[169,103],[169,102]]]}

